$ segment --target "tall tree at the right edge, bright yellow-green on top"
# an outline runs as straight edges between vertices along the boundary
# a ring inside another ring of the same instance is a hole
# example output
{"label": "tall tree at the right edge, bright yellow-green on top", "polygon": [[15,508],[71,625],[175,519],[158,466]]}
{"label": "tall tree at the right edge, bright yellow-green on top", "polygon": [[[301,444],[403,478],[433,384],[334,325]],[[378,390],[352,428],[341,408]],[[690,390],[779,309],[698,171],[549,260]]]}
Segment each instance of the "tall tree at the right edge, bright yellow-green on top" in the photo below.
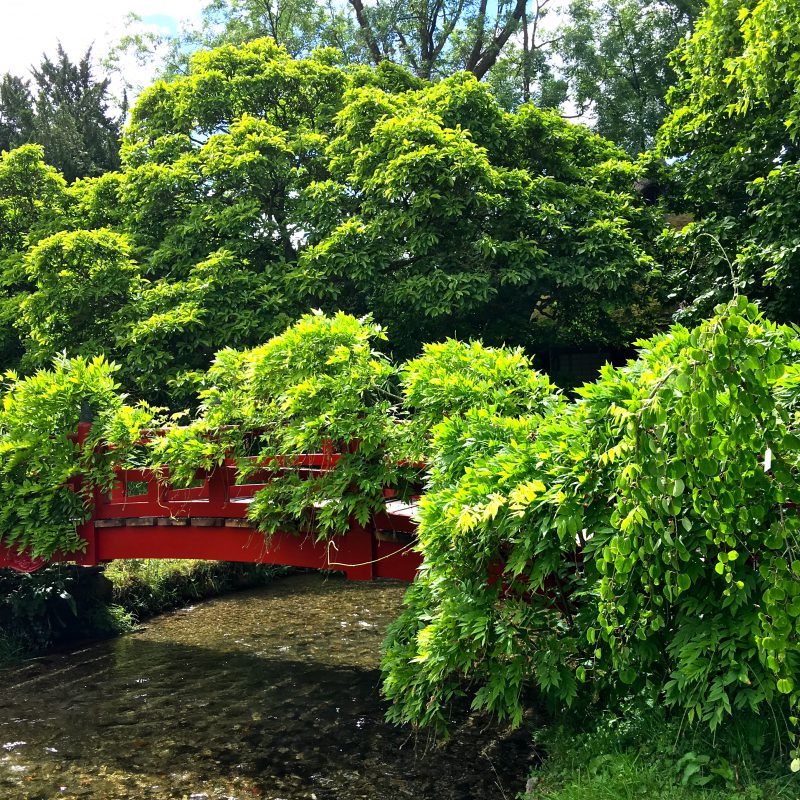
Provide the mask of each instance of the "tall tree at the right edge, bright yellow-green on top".
{"label": "tall tree at the right edge, bright yellow-green on top", "polygon": [[800,321],[800,7],[712,0],[678,51],[660,152],[697,223],[681,276],[691,316],[738,288]]}

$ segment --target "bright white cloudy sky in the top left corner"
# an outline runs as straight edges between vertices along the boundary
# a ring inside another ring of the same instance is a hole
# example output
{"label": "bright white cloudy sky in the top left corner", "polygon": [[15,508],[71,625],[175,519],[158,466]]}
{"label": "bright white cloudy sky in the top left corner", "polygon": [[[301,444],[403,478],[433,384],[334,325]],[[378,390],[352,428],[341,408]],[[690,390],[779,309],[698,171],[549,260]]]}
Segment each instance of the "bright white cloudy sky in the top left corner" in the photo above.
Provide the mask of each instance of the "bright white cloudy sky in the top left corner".
{"label": "bright white cloudy sky in the top left corner", "polygon": [[0,75],[27,76],[60,41],[73,61],[93,46],[104,56],[119,40],[130,12],[148,27],[174,32],[197,21],[205,0],[0,0]]}

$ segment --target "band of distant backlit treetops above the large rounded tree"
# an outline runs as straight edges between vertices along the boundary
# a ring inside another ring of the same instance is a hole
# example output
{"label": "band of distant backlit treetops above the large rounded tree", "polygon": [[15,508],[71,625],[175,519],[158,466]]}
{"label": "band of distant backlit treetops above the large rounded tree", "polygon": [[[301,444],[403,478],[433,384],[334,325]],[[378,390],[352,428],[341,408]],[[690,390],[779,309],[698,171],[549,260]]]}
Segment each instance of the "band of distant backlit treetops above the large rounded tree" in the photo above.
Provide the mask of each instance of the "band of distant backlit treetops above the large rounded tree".
{"label": "band of distant backlit treetops above the large rounded tree", "polygon": [[343,63],[389,61],[439,80],[459,70],[493,89],[506,109],[536,102],[580,116],[636,155],[652,146],[674,82],[669,53],[703,0],[426,0],[362,3],[213,0],[202,20],[157,35],[135,16],[111,62],[133,50],[165,77],[192,53],[268,36],[294,57],[335,47]]}

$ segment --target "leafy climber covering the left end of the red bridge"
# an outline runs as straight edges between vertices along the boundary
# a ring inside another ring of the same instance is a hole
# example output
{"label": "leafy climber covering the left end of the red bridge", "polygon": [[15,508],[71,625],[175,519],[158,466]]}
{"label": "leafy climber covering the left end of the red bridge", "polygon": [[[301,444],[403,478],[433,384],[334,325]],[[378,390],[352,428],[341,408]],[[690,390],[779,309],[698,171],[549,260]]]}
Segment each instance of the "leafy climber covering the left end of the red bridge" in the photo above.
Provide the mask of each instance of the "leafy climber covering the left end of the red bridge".
{"label": "leafy climber covering the left end of the red bridge", "polygon": [[[103,358],[57,358],[27,378],[6,374],[0,410],[0,542],[34,557],[85,547],[77,528],[91,514],[96,487],[113,479],[116,457],[152,421],[144,407],[124,405],[116,367]],[[84,446],[78,423],[95,417]]]}

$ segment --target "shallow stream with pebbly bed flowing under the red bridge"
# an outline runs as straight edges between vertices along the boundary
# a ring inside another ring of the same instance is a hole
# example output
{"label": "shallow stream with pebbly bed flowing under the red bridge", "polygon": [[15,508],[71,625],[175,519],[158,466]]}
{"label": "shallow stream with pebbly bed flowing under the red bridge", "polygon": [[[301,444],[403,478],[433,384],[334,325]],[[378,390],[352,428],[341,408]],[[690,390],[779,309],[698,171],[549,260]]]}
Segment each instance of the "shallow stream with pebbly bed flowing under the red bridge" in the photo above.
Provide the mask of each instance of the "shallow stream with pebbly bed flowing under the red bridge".
{"label": "shallow stream with pebbly bed flowing under the red bridge", "polygon": [[0,799],[511,800],[524,731],[384,722],[404,590],[292,576],[0,673]]}

